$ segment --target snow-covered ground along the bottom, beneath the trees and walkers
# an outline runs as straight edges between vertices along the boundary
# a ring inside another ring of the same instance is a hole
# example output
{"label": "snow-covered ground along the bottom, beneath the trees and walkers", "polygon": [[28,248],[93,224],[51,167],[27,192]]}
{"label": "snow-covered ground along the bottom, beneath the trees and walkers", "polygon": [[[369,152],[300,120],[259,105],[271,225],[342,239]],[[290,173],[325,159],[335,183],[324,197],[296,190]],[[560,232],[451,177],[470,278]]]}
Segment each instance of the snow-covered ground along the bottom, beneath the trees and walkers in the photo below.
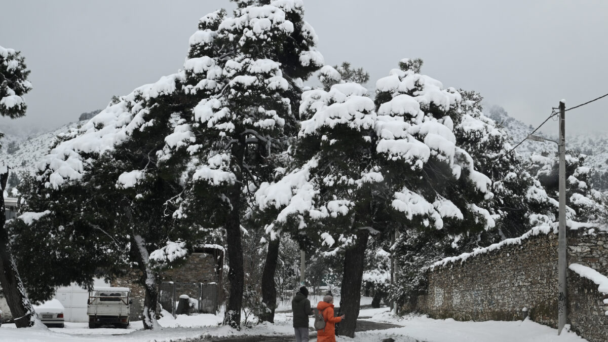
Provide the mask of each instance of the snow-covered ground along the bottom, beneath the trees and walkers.
{"label": "snow-covered ground along the bottom, beneath the trees and walkers", "polygon": [[[413,342],[584,342],[573,332],[564,332],[558,336],[556,329],[532,321],[486,321],[458,322],[454,319],[431,319],[426,316],[409,315],[395,317],[389,309],[362,309],[360,316],[368,321],[391,323],[402,327],[385,330],[370,330],[356,333],[354,339],[337,337],[338,342],[380,341],[392,337],[395,341]],[[179,339],[197,339],[205,337],[227,336],[292,336],[291,313],[277,313],[275,324],[260,324],[241,331],[219,326],[223,314],[215,315],[179,315],[161,318],[159,323],[164,327],[154,332],[142,330],[141,321],[131,323],[129,329],[88,329],[86,323],[66,323],[64,329],[15,329],[14,324],[3,324],[0,327],[0,341],[176,341]],[[311,326],[313,319],[311,318]]]}

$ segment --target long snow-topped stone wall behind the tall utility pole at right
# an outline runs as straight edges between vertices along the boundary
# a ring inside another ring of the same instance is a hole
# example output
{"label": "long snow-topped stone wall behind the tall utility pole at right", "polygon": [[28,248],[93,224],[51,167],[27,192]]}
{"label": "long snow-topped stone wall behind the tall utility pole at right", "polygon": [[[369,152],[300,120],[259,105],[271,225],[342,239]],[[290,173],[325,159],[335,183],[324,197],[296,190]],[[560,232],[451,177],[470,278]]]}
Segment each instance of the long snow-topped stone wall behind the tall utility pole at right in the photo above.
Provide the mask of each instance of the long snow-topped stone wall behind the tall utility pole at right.
{"label": "long snow-topped stone wall behind the tall utility pole at right", "polygon": [[[570,230],[568,263],[606,275],[608,234],[588,232]],[[522,238],[445,259],[427,272],[427,288],[404,309],[463,321],[519,320],[529,315],[556,327],[557,247],[558,238],[550,229],[534,229]],[[590,341],[607,341],[604,298],[598,285],[568,270],[568,323]]]}

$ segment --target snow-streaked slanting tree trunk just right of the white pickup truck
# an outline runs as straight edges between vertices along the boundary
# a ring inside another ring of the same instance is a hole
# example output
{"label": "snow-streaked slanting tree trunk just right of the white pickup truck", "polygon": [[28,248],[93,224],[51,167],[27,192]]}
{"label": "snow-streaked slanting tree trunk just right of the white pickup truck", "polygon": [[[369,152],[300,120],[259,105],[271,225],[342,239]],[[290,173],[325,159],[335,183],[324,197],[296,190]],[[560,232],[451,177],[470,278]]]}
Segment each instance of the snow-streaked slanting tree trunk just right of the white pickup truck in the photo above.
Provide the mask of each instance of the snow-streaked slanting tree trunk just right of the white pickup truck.
{"label": "snow-streaked slanting tree trunk just right of the white pickup truck", "polygon": [[158,303],[156,273],[148,266],[150,254],[148,254],[148,250],[146,249],[145,240],[139,234],[134,235],[133,240],[137,247],[137,256],[139,256],[139,269],[143,273],[140,281],[146,293],[145,299],[143,299],[143,329],[160,329],[161,326],[156,321],[156,306]]}

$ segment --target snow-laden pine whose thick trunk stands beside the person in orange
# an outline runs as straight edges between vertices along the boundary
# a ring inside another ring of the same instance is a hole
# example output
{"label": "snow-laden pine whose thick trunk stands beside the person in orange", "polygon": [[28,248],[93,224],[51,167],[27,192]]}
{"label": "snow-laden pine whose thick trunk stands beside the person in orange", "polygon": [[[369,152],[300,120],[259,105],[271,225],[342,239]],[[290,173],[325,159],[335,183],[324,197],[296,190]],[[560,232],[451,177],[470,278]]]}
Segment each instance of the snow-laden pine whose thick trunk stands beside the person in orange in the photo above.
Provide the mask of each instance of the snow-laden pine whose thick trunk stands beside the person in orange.
{"label": "snow-laden pine whose thick trunk stands beside the person in orange", "polygon": [[[345,251],[340,333],[347,336],[356,327],[370,231],[390,239],[398,228],[457,234],[494,226],[482,207],[491,181],[454,135],[460,94],[412,65],[403,60],[378,81],[376,105],[354,83],[305,92],[300,115],[308,120],[294,146],[299,167],[257,192],[261,209],[280,208],[277,225],[295,224]],[[339,80],[331,69],[323,77]]]}

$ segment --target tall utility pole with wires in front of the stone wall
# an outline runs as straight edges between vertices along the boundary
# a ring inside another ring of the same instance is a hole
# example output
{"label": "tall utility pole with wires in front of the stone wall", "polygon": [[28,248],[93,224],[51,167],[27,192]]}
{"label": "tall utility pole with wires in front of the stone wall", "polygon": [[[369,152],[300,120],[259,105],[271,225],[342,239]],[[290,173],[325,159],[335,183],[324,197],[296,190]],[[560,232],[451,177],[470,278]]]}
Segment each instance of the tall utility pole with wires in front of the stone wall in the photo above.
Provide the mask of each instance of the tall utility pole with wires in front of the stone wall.
{"label": "tall utility pole with wires in front of the stone wall", "polygon": [[559,102],[559,232],[558,232],[558,335],[568,317],[566,239],[566,140],[565,100]]}

